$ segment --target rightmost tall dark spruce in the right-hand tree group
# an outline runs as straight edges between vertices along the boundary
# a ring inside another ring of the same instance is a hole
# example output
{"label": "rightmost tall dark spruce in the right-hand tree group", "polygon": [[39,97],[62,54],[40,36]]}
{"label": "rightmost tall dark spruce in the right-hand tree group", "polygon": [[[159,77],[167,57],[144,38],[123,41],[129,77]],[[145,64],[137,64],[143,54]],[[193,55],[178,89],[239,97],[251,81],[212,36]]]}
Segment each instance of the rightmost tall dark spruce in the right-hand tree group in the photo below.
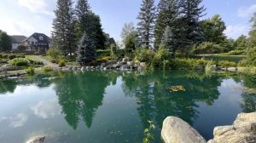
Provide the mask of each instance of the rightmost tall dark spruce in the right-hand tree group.
{"label": "rightmost tall dark spruce in the right-hand tree group", "polygon": [[177,31],[180,48],[183,47],[186,56],[189,54],[189,48],[204,40],[200,18],[205,15],[206,9],[201,3],[202,0],[181,0],[179,3],[181,18]]}

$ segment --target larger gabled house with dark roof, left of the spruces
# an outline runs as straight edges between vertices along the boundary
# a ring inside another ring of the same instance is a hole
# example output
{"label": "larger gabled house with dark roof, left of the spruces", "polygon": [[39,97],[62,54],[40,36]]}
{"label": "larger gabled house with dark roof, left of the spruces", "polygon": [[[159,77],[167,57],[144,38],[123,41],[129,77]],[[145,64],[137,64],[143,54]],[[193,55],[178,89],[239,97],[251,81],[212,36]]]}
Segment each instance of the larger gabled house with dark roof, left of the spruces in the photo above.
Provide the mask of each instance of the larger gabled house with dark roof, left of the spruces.
{"label": "larger gabled house with dark roof, left of the spruces", "polygon": [[26,51],[46,51],[49,49],[49,37],[43,33],[33,33],[21,43],[26,46]]}

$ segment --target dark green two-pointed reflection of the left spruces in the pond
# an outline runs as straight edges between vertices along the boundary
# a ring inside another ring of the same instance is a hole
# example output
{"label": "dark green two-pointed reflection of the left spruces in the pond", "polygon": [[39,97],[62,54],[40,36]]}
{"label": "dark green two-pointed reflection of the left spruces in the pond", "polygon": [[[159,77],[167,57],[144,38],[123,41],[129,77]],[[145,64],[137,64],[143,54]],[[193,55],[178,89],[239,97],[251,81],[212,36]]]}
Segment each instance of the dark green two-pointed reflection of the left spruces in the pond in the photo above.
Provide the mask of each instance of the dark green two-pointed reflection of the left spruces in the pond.
{"label": "dark green two-pointed reflection of the left spruces in the pond", "polygon": [[78,128],[80,117],[90,128],[96,110],[102,106],[105,88],[114,83],[111,79],[107,72],[68,73],[55,83],[62,112],[73,129]]}

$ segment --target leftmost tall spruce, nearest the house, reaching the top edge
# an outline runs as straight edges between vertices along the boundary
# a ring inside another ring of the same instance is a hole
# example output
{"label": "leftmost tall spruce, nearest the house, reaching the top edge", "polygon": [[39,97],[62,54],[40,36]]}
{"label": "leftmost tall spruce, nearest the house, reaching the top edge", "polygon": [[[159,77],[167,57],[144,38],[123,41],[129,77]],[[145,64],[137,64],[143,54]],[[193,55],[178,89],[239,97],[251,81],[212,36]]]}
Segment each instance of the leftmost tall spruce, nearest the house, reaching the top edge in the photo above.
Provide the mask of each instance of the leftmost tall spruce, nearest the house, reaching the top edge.
{"label": "leftmost tall spruce, nearest the house, reaching the top edge", "polygon": [[53,43],[64,55],[76,51],[74,21],[73,1],[57,0],[52,31]]}

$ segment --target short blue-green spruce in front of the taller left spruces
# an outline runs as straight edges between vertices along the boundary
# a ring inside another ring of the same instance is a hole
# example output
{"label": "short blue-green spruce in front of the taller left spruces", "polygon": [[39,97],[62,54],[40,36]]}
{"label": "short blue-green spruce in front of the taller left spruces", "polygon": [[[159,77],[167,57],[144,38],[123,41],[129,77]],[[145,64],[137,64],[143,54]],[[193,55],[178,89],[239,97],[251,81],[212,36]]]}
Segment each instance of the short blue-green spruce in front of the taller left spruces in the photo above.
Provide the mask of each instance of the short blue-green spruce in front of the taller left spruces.
{"label": "short blue-green spruce in front of the taller left spruces", "polygon": [[94,39],[84,34],[79,42],[78,49],[78,63],[79,66],[90,64],[91,61],[96,59],[96,45]]}

